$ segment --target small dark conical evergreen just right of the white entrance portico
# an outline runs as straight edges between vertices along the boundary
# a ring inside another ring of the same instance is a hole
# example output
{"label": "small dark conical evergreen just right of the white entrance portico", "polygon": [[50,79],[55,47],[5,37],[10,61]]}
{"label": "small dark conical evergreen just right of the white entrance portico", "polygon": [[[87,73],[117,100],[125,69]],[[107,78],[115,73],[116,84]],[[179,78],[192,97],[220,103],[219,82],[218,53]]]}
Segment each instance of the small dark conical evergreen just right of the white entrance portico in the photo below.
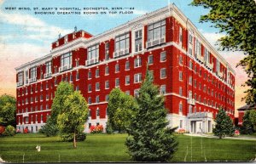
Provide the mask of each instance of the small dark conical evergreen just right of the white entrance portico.
{"label": "small dark conical evergreen just right of the white entrance portico", "polygon": [[233,122],[225,112],[225,110],[218,110],[218,114],[215,118],[216,125],[213,128],[214,135],[218,136],[219,139],[224,138],[226,135],[232,136],[235,132]]}

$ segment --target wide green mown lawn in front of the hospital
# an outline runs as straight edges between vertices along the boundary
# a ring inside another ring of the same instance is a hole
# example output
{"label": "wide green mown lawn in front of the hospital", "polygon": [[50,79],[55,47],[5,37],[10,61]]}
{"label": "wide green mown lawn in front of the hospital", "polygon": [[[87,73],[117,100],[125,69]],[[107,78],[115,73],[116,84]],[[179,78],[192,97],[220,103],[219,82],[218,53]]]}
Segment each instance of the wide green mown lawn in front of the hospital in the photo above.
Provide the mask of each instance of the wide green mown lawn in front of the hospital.
{"label": "wide green mown lawn in front of the hospital", "polygon": [[[40,134],[17,134],[0,138],[0,156],[11,162],[86,162],[131,161],[126,153],[127,134],[88,134],[84,142],[60,142]],[[255,158],[256,142],[233,139],[208,139],[177,135],[178,150],[172,161],[251,161]],[[41,145],[41,151],[36,150]]]}

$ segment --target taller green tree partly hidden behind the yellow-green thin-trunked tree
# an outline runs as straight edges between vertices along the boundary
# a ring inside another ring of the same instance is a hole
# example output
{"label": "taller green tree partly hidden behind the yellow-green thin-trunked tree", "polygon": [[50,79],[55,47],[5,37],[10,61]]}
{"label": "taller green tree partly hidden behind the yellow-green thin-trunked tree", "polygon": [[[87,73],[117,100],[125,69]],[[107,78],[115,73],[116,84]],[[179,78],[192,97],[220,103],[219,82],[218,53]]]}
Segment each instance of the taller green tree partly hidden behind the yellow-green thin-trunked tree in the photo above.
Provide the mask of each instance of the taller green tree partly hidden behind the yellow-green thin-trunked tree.
{"label": "taller green tree partly hidden behind the yellow-green thin-trunked tree", "polygon": [[51,105],[51,114],[50,114],[50,122],[53,124],[57,123],[57,116],[65,111],[64,102],[69,95],[74,92],[73,85],[68,82],[60,82],[56,91],[55,98],[53,99],[53,103]]}

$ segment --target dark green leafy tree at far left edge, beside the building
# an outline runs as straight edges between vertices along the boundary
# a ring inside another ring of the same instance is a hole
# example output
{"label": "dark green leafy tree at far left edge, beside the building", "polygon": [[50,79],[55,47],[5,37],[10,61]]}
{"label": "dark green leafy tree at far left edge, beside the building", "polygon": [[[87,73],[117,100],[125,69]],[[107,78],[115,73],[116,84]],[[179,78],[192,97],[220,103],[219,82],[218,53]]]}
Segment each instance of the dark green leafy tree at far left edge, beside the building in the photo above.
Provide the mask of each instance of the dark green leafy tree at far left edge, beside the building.
{"label": "dark green leafy tree at far left edge, beside the building", "polygon": [[0,97],[0,125],[16,126],[16,99],[8,94]]}

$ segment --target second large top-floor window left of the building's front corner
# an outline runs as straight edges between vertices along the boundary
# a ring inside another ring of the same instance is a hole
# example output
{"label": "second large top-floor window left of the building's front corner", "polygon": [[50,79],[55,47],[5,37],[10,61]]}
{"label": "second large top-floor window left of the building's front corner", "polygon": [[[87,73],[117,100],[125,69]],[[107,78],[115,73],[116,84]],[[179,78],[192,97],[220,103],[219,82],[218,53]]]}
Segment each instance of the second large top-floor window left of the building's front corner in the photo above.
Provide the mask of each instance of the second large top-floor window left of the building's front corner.
{"label": "second large top-floor window left of the building's front corner", "polygon": [[[121,35],[119,37],[115,37],[115,52],[129,49],[130,48],[130,36],[129,33],[125,35]],[[129,53],[129,51],[128,51]]]}

